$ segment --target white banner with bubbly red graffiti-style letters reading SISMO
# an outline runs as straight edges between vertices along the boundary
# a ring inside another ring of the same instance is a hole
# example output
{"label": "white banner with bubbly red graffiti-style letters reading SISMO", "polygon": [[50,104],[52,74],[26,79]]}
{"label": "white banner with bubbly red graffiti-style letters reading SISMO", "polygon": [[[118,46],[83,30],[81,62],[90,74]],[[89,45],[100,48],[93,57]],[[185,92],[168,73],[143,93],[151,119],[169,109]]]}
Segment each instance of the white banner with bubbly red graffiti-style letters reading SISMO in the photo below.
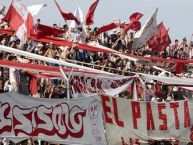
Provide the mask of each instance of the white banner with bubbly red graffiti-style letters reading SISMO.
{"label": "white banner with bubbly red graffiti-style letters reading SISMO", "polygon": [[0,94],[0,137],[105,145],[99,97],[65,101]]}

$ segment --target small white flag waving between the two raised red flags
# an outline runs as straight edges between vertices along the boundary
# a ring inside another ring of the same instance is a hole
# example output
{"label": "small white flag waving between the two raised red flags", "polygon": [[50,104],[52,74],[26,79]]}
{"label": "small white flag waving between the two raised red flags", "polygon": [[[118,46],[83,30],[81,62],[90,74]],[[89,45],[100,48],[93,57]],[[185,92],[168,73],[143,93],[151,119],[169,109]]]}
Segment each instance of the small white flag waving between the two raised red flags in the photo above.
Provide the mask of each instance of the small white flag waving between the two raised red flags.
{"label": "small white flag waving between the two raised red flags", "polygon": [[70,24],[70,28],[77,28],[77,26],[83,27],[84,23],[84,14],[79,6],[76,6],[76,10],[74,12],[74,16],[77,17],[77,19],[80,21],[80,25],[77,25],[75,21],[72,21]]}

